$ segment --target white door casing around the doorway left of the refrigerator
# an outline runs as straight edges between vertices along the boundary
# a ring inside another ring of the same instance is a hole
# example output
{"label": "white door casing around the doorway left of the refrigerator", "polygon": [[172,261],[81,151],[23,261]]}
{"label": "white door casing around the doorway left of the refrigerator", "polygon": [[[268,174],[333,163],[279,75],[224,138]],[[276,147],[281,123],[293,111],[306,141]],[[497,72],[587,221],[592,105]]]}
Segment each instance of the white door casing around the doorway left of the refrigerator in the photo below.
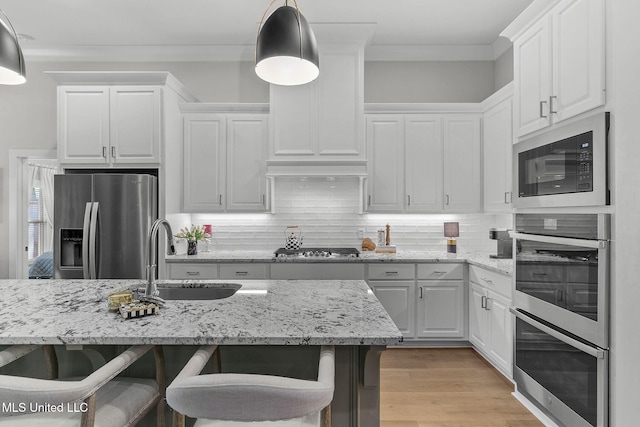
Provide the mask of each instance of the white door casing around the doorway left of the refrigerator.
{"label": "white door casing around the doorway left of the refrigerator", "polygon": [[[24,204],[20,203],[20,192],[23,188],[23,161],[28,158],[58,159],[56,150],[9,150],[9,278],[26,279],[23,259],[24,254]],[[20,236],[23,236],[22,238]]]}

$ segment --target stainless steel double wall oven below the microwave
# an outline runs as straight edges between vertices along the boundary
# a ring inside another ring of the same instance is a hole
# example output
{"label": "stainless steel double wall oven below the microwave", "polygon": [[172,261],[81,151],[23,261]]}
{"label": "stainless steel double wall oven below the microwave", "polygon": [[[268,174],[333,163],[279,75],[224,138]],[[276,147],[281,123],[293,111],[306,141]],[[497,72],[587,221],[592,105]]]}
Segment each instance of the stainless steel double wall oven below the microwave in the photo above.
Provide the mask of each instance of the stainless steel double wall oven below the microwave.
{"label": "stainless steel double wall oven below the microwave", "polygon": [[516,214],[514,380],[571,427],[608,424],[608,214]]}

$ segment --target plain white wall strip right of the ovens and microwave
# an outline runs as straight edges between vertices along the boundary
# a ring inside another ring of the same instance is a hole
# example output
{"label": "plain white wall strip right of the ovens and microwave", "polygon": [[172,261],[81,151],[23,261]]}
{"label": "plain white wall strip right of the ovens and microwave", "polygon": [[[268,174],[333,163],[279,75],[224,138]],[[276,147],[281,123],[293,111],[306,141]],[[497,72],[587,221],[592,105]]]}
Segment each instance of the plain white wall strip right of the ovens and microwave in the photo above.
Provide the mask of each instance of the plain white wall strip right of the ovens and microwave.
{"label": "plain white wall strip right of the ovens and microwave", "polygon": [[608,2],[608,103],[615,144],[611,289],[611,425],[638,425],[640,405],[640,2]]}

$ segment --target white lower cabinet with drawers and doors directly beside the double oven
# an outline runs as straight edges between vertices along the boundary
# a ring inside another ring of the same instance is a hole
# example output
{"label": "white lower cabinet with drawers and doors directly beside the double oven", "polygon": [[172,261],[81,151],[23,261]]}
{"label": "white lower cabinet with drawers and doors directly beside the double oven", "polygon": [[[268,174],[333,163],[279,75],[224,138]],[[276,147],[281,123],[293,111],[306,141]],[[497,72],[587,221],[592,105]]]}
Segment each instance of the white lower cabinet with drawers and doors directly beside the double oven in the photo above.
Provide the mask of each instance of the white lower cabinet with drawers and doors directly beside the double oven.
{"label": "white lower cabinet with drawers and doors directly beside the double oven", "polygon": [[469,267],[469,341],[509,378],[513,360],[510,283],[507,276]]}

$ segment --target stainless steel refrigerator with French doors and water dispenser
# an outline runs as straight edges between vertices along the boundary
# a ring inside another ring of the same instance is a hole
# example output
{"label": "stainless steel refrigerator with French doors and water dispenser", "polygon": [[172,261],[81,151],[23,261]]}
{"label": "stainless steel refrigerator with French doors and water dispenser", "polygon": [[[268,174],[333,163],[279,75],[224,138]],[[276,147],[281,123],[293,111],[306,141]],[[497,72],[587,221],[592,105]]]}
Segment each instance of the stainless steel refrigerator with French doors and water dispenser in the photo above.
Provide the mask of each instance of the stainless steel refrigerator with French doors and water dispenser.
{"label": "stainless steel refrigerator with French doors and water dispenser", "polygon": [[54,277],[145,279],[157,178],[96,173],[54,177]]}

